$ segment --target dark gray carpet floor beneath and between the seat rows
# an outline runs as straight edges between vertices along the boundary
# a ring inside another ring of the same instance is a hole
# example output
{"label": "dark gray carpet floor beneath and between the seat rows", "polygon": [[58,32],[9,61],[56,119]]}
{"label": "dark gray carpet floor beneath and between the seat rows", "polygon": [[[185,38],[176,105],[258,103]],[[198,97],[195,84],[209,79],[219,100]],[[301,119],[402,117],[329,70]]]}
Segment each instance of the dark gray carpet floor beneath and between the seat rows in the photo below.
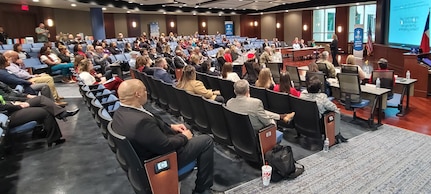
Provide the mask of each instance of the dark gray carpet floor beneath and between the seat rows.
{"label": "dark gray carpet floor beneath and between the seat rows", "polygon": [[[31,135],[17,138],[12,153],[0,161],[0,193],[134,193],[83,101],[66,101],[69,107],[81,108],[68,122],[58,121],[66,143],[47,148]],[[180,122],[154,104],[146,108],[167,122]],[[342,126],[348,138],[367,131],[346,122]],[[296,160],[316,152],[285,140],[282,144],[293,147]],[[214,153],[213,189],[225,191],[260,176],[260,170],[237,157],[232,148],[216,145]],[[194,173],[181,182],[181,193],[191,193]]]}

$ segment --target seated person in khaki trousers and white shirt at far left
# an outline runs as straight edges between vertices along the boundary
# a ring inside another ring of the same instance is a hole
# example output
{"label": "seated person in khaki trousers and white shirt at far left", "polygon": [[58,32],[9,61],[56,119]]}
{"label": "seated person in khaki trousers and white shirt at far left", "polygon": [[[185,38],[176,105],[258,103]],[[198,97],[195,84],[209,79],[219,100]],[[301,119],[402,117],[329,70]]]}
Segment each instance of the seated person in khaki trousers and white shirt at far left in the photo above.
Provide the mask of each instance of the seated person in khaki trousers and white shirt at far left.
{"label": "seated person in khaki trousers and white shirt at far left", "polygon": [[57,89],[55,88],[54,79],[50,75],[45,73],[30,75],[30,73],[28,73],[26,70],[23,70],[21,68],[21,66],[24,64],[22,60],[19,59],[18,53],[15,51],[6,51],[4,53],[4,56],[9,62],[9,66],[7,66],[6,69],[11,74],[16,75],[20,79],[31,82],[32,84],[30,85],[30,87],[36,91],[42,91],[44,95],[49,96],[49,94],[45,94],[45,92],[43,92],[44,90],[43,87],[49,87],[50,94],[52,95],[52,98],[55,100],[57,105],[63,106],[67,104],[66,102],[61,101],[63,97],[58,95]]}

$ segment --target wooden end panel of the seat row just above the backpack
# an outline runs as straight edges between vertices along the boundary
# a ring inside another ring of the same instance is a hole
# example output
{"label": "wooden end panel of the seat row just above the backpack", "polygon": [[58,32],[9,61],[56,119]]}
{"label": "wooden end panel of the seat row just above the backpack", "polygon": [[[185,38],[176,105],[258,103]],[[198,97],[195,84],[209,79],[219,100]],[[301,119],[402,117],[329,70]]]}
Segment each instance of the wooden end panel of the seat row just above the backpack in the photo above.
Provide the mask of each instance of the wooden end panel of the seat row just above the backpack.
{"label": "wooden end panel of the seat row just above the backpack", "polygon": [[277,144],[277,135],[276,135],[277,127],[275,125],[266,126],[263,129],[259,130],[259,144],[260,144],[260,152],[262,155],[262,164],[265,164],[265,153]]}

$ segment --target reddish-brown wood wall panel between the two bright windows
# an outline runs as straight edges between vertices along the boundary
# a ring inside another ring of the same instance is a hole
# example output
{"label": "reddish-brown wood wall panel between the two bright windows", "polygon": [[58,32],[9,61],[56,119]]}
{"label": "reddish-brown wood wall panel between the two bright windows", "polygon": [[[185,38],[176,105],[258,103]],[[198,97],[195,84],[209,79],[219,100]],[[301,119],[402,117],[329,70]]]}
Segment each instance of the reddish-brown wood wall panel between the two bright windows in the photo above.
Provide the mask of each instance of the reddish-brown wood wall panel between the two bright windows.
{"label": "reddish-brown wood wall panel between the two bright windows", "polygon": [[[349,7],[337,7],[335,12],[335,34],[338,36],[338,48],[347,52],[347,42],[349,38]],[[339,26],[341,26],[342,32],[338,32]]]}

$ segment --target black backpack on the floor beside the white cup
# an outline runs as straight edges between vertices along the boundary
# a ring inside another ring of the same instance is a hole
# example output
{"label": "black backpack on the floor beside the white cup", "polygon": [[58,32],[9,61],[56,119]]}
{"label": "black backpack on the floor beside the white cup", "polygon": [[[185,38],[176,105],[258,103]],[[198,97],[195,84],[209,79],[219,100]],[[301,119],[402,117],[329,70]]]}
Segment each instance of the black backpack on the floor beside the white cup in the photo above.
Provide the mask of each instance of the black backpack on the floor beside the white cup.
{"label": "black backpack on the floor beside the white cup", "polygon": [[[265,160],[272,167],[271,182],[294,179],[304,172],[304,166],[293,158],[290,146],[276,145],[265,153]],[[298,164],[299,168],[295,164]]]}

